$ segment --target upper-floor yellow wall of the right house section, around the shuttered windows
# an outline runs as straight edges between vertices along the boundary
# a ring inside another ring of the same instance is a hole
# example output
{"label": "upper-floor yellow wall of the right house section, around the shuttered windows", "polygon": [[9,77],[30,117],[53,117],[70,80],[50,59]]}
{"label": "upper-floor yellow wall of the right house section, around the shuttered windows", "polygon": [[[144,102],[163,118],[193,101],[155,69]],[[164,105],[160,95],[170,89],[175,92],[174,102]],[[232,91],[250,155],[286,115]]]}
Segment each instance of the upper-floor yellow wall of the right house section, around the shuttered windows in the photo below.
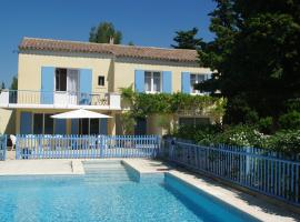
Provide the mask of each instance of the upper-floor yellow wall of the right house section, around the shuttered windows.
{"label": "upper-floor yellow wall of the right house section, around the shuttered windows", "polygon": [[134,85],[134,70],[171,71],[172,92],[181,91],[181,72],[211,73],[210,69],[199,68],[197,63],[168,62],[141,59],[116,59],[114,62],[114,91],[120,88]]}

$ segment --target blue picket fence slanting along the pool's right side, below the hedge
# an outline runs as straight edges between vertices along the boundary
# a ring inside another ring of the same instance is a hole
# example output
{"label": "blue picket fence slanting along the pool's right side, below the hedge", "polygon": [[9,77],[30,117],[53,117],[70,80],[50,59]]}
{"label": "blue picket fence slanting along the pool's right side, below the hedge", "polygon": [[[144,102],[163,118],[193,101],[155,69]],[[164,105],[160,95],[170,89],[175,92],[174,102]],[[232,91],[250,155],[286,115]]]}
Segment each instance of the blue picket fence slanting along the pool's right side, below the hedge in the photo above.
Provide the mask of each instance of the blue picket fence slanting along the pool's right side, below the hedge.
{"label": "blue picket fence slanting along the pool's right side, below the hedge", "polygon": [[209,148],[166,139],[159,155],[199,172],[300,205],[300,162],[253,149]]}

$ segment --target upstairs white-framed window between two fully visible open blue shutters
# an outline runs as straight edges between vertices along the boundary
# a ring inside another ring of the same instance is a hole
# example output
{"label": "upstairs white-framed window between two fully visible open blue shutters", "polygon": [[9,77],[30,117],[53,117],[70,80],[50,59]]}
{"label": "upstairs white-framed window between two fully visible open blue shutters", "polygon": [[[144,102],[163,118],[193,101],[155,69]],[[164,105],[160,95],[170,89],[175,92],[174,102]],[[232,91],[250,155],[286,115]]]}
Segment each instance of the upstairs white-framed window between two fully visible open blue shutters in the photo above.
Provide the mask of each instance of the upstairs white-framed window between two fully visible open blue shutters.
{"label": "upstairs white-framed window between two fully visible open blue shutters", "polygon": [[146,92],[161,92],[162,78],[159,71],[146,71],[144,72],[144,91]]}

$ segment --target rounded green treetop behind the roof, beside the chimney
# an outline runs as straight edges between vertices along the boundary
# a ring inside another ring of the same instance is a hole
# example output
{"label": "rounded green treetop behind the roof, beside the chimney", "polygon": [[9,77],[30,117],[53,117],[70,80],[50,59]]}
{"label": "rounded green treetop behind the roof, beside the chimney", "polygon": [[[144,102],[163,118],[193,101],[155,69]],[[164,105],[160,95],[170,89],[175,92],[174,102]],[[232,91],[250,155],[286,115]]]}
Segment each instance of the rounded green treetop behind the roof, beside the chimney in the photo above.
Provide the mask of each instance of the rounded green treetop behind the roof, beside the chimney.
{"label": "rounded green treetop behind the roof, beside the chimney", "polygon": [[90,31],[90,42],[110,43],[111,38],[114,44],[120,44],[122,33],[114,29],[111,22],[101,22],[98,27],[92,27]]}

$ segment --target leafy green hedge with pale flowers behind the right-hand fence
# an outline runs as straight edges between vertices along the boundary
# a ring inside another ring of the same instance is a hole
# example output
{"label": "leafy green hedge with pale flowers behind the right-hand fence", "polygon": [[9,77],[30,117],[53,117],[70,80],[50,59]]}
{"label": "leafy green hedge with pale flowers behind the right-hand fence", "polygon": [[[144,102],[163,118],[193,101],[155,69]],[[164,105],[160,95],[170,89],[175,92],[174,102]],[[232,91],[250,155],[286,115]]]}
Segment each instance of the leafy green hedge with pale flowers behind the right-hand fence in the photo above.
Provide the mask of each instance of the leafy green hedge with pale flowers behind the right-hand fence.
{"label": "leafy green hedge with pale flowers behind the right-hand fence", "polygon": [[[269,122],[269,120],[267,121]],[[263,148],[284,152],[288,154],[300,154],[300,130],[278,131],[272,135],[266,135],[252,125],[219,125],[182,127],[173,137],[192,140],[201,145],[229,144],[234,147]]]}

